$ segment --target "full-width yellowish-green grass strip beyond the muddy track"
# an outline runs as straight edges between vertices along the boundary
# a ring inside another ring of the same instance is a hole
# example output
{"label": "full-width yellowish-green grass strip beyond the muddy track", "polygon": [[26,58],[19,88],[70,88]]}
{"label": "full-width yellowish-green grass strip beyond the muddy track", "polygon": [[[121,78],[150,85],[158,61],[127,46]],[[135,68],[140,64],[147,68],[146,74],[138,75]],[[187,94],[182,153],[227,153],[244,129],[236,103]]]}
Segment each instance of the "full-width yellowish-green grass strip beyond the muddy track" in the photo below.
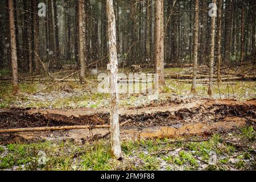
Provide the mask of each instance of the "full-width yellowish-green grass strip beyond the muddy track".
{"label": "full-width yellowish-green grass strip beyond the muddy track", "polygon": [[[167,68],[165,69],[166,74],[174,74],[186,71],[186,68]],[[1,70],[2,73],[7,73],[6,70]],[[61,76],[60,76],[61,77]],[[46,87],[51,82],[33,82],[22,81],[19,84],[20,94],[14,95],[13,86],[11,82],[1,82],[0,87],[0,108],[17,106],[17,107],[52,107],[56,109],[72,109],[80,107],[88,107],[88,102],[93,102],[90,104],[92,108],[99,107],[108,107],[109,94],[97,93],[97,81],[92,80],[92,77],[88,76],[88,83],[86,85],[81,85],[79,82],[69,81],[69,82],[60,82],[59,84],[47,89],[43,94],[51,96],[52,92],[55,92],[55,98],[52,101],[42,101],[35,99],[27,98],[27,95],[35,93],[36,91]],[[95,82],[95,84],[94,84]],[[178,96],[188,95],[191,91],[191,84],[186,82],[177,82],[173,79],[166,79],[167,86],[164,87],[164,93],[162,96],[172,96],[172,94],[177,94]],[[59,94],[60,90],[68,86],[71,88],[74,93],[71,93],[71,96],[63,97]],[[141,84],[139,85],[141,88]],[[94,90],[94,91],[93,91]],[[197,95],[208,97],[208,84],[197,84]],[[253,81],[234,81],[232,86],[228,82],[220,83],[220,92],[221,98],[233,98],[235,96],[236,100],[248,100],[255,98],[256,93],[256,82]],[[233,93],[234,92],[234,93]],[[76,94],[79,93],[79,94]],[[73,94],[73,96],[72,96]],[[135,101],[138,100],[140,94],[132,94],[127,98],[127,94],[120,94],[121,100],[119,102],[120,107],[134,107]],[[219,98],[218,94],[218,85],[216,82],[213,83],[213,97]],[[143,99],[145,100],[145,99]],[[27,102],[24,105],[24,102]],[[144,102],[144,101],[143,101]]]}

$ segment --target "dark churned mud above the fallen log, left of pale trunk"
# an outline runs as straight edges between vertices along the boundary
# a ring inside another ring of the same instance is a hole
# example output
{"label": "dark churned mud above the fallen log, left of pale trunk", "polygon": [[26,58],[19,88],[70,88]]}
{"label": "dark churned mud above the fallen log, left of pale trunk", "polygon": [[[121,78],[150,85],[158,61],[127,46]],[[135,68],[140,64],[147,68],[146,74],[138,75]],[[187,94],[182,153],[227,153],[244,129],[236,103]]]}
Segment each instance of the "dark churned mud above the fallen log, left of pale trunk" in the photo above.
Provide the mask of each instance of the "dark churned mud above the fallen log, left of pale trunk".
{"label": "dark churned mud above the fallen log, left of pale trunk", "polygon": [[61,114],[43,114],[30,109],[7,109],[0,112],[0,128],[15,129],[43,126],[72,126],[72,125],[103,125],[108,115],[82,115],[81,117],[67,117]]}

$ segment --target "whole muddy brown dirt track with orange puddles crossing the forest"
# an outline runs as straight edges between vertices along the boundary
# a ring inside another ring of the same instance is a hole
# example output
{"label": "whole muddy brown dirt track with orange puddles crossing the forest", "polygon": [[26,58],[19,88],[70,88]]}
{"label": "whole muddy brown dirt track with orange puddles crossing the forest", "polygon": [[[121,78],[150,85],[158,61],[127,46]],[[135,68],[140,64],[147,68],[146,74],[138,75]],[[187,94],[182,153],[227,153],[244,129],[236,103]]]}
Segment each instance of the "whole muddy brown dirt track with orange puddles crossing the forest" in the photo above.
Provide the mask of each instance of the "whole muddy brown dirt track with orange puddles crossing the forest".
{"label": "whole muddy brown dirt track with orange puddles crossing the forest", "polygon": [[[166,104],[141,109],[119,110],[122,138],[171,137],[175,135],[209,135],[241,127],[256,121],[256,100],[199,100],[187,104]],[[72,125],[104,125],[109,123],[107,110],[2,109],[0,129]],[[19,133],[24,139],[82,139],[100,137],[108,129]],[[17,134],[1,134],[0,143],[13,140]]]}

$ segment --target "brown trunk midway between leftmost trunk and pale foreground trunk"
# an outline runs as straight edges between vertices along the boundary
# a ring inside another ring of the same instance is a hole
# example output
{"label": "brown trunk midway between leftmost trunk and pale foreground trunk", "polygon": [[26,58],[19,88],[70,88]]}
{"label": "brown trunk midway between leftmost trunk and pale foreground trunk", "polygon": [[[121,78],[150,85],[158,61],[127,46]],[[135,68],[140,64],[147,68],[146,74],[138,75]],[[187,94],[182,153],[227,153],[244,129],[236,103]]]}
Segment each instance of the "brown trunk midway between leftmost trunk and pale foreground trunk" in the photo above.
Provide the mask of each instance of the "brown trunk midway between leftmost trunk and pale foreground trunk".
{"label": "brown trunk midway between leftmost trunk and pale foreground trunk", "polygon": [[79,61],[80,61],[80,82],[85,82],[85,53],[84,53],[84,21],[83,21],[83,0],[79,0]]}

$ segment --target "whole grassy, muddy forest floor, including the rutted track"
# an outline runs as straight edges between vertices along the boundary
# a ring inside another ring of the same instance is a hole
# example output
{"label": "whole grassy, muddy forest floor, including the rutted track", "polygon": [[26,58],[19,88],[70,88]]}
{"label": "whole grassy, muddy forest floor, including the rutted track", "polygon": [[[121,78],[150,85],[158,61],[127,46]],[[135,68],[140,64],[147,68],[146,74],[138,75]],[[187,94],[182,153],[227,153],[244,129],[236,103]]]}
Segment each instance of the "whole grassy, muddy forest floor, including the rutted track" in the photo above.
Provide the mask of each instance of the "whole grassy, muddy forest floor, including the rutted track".
{"label": "whole grassy, muddy forest floor, including the rutted track", "polygon": [[[191,68],[166,69],[167,75],[188,72]],[[189,81],[170,78],[158,98],[120,94],[120,122],[128,122],[121,127],[123,160],[119,162],[110,156],[109,130],[94,128],[109,123],[109,94],[97,92],[93,76],[86,80],[81,85],[74,76],[39,94],[32,93],[51,84],[48,78],[23,80],[17,95],[11,93],[10,82],[1,82],[0,130],[91,128],[0,134],[0,169],[256,169],[255,81],[214,82],[212,98],[204,82],[191,95]],[[45,165],[38,164],[39,151],[46,153]]]}

